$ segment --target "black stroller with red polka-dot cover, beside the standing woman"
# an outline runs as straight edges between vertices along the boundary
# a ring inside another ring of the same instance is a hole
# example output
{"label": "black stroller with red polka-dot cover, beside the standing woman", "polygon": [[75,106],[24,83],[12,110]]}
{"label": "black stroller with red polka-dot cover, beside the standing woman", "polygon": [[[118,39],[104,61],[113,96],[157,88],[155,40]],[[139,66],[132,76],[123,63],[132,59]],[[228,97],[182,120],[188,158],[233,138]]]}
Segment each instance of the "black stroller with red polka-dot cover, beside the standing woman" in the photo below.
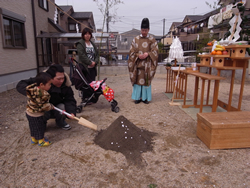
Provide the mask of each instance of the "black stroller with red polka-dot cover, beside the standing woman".
{"label": "black stroller with red polka-dot cover, beside the standing woman", "polygon": [[111,110],[113,112],[119,112],[120,108],[117,106],[118,102],[114,99],[114,91],[105,83],[107,78],[89,83],[88,72],[84,66],[78,63],[74,58],[70,59],[70,78],[82,99],[81,104],[77,106],[77,113],[80,113],[82,108],[87,104],[96,103],[100,95],[104,95],[111,104]]}

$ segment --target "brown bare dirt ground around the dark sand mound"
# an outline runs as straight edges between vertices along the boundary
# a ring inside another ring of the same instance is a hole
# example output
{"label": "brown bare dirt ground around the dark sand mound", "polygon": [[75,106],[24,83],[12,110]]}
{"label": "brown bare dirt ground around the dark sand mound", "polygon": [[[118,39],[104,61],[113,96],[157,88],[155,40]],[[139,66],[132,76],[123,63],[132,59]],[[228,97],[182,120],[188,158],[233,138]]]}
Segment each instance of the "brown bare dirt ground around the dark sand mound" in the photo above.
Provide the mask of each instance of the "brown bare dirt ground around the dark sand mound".
{"label": "brown bare dirt ground around the dark sand mound", "polygon": [[[189,97],[193,95],[192,79]],[[196,136],[197,122],[169,105],[165,74],[156,74],[150,104],[134,104],[128,75],[109,76],[106,83],[115,91],[120,112],[112,112],[100,96],[77,116],[104,130],[122,115],[138,128],[156,133],[152,151],[141,153],[144,165],[133,165],[121,152],[96,145],[98,132],[75,120],[68,120],[69,131],[49,121],[45,135],[53,144],[32,146],[24,113],[26,98],[11,90],[0,94],[0,187],[250,187],[250,149],[209,150]],[[220,83],[219,99],[227,100],[229,83]],[[250,111],[249,85],[248,81],[244,87],[244,111]],[[235,107],[238,93],[236,82]],[[75,98],[80,102],[77,91]]]}

